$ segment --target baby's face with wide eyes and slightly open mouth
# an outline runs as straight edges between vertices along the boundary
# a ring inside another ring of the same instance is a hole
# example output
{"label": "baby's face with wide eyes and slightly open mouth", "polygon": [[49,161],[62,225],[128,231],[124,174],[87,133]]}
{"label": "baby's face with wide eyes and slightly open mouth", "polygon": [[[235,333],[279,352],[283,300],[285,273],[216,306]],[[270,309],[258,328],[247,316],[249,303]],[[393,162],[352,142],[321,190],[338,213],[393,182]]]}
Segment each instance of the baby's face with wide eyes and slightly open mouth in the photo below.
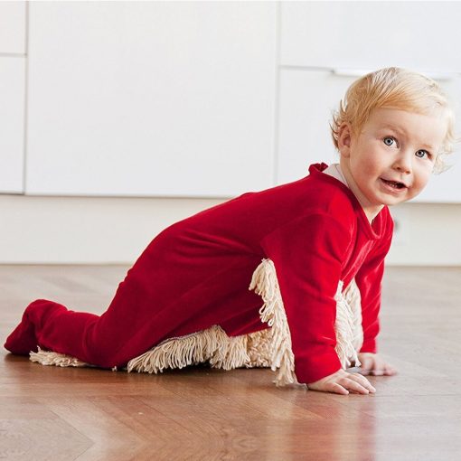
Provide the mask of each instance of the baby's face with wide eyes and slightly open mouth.
{"label": "baby's face with wide eyes and slightly open mouth", "polygon": [[446,133],[444,118],[374,109],[361,133],[351,134],[349,145],[340,149],[353,180],[349,185],[362,206],[376,210],[418,195],[428,183]]}

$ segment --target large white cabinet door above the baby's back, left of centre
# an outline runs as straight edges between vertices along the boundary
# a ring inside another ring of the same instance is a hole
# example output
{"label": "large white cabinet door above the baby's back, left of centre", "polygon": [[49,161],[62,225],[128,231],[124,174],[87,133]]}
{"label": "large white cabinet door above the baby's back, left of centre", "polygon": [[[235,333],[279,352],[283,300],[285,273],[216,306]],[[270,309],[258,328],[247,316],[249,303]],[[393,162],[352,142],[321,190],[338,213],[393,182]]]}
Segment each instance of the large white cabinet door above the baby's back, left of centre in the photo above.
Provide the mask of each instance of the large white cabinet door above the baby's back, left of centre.
{"label": "large white cabinet door above the baby's back, left of centre", "polygon": [[26,193],[216,196],[273,183],[272,2],[37,2]]}

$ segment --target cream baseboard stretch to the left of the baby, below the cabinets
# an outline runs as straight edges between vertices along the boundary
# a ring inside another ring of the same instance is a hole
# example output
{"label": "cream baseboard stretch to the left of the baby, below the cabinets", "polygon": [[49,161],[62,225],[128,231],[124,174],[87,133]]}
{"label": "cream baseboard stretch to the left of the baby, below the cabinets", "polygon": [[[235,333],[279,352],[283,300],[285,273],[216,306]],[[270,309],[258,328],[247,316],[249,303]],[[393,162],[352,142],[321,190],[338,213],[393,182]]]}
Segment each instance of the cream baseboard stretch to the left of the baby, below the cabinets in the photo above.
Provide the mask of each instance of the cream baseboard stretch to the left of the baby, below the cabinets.
{"label": "cream baseboard stretch to the left of the baby, below the cabinets", "polygon": [[130,264],[165,227],[220,202],[0,195],[0,264]]}

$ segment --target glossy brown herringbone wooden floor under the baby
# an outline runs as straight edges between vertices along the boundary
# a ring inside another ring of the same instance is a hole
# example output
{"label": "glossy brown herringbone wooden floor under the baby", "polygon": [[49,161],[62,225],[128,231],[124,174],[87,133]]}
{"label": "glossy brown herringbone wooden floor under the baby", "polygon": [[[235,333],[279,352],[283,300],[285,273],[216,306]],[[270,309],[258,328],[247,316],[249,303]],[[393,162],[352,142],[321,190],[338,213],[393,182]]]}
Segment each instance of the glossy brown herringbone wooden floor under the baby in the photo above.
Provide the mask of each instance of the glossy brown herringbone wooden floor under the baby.
{"label": "glossy brown herringbone wooden floor under the baby", "polygon": [[[122,266],[0,266],[0,337],[49,298],[101,313]],[[459,460],[461,268],[388,268],[375,395],[277,389],[268,370],[163,375],[0,357],[0,459]]]}

